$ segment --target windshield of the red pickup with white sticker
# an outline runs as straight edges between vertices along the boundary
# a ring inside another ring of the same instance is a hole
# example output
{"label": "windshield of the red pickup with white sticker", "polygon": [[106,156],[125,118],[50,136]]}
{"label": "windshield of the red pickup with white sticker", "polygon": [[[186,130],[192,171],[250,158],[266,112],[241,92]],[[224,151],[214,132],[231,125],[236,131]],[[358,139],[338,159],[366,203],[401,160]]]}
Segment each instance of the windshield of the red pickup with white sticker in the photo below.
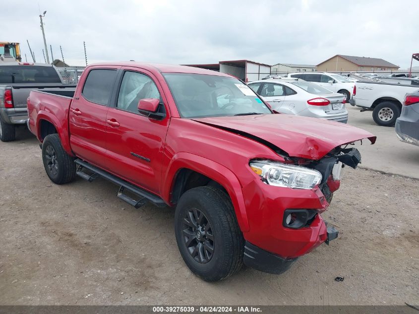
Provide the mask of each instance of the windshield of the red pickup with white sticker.
{"label": "windshield of the red pickup with white sticker", "polygon": [[272,113],[259,96],[238,79],[190,73],[165,73],[164,77],[182,118]]}

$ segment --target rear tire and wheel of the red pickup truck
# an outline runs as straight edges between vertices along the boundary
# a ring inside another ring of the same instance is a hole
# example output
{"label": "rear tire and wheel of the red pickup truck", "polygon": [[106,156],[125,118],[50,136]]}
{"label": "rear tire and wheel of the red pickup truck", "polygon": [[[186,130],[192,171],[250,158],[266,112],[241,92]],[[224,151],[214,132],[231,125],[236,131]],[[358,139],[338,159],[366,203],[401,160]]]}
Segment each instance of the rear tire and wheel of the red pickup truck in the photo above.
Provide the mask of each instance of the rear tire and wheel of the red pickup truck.
{"label": "rear tire and wheel of the red pickup truck", "polygon": [[47,135],[42,143],[42,161],[45,172],[55,184],[64,184],[74,180],[76,164],[62,148],[58,134]]}

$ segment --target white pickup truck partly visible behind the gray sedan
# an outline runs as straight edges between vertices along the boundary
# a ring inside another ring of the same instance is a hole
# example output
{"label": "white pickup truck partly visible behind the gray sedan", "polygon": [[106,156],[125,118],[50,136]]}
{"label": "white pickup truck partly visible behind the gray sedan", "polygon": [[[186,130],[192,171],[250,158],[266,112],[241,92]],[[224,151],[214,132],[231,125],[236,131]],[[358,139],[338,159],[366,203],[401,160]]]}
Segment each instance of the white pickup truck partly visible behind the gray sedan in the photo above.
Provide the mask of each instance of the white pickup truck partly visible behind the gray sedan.
{"label": "white pickup truck partly visible behind the gray sedan", "polygon": [[417,91],[419,86],[411,84],[358,81],[349,103],[360,107],[361,111],[372,110],[377,125],[394,126],[400,117],[405,95]]}

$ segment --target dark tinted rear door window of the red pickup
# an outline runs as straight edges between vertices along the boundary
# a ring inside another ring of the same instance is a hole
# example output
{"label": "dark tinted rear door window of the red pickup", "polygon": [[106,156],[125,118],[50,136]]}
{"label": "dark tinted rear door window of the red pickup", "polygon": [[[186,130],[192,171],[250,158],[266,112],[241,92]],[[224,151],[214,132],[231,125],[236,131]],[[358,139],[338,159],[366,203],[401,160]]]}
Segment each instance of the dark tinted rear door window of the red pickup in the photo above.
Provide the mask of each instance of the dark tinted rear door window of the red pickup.
{"label": "dark tinted rear door window of the red pickup", "polygon": [[93,103],[108,105],[117,70],[91,70],[84,82],[83,97]]}

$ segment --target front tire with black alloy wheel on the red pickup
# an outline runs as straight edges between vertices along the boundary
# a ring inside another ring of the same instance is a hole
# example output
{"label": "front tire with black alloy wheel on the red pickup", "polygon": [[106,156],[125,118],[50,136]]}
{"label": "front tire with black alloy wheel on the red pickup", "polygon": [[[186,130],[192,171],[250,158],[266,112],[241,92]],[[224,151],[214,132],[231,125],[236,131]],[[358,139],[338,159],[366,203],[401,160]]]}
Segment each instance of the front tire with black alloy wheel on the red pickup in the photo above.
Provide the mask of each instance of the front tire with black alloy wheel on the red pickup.
{"label": "front tire with black alloy wheel on the red pickup", "polygon": [[230,198],[218,188],[197,187],[182,194],[175,235],[184,262],[205,281],[226,279],[242,266],[243,235]]}

